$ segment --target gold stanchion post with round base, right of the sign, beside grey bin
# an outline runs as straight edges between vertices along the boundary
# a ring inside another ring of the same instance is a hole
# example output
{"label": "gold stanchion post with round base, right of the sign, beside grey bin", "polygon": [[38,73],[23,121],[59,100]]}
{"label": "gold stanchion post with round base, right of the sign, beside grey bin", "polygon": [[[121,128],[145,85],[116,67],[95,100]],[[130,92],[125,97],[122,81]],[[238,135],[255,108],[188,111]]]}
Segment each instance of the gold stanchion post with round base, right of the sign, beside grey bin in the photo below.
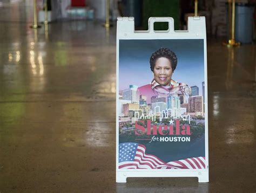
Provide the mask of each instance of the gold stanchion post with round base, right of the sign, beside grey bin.
{"label": "gold stanchion post with round base, right of the sign, beside grey bin", "polygon": [[[232,5],[231,5],[232,4]],[[230,23],[230,37],[228,43],[223,43],[227,47],[240,46],[240,42],[235,42],[235,0],[228,0],[228,18]],[[232,9],[232,11],[230,10]]]}

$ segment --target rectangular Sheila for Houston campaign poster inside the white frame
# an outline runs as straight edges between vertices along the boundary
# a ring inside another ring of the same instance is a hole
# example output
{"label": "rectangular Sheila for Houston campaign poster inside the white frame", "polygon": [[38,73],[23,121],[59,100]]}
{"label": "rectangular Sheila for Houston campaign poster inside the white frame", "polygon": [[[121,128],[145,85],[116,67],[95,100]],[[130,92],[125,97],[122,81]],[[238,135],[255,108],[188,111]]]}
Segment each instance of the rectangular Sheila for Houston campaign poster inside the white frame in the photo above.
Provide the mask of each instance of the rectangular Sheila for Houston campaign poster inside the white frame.
{"label": "rectangular Sheila for Houston campaign poster inside the white frame", "polygon": [[204,39],[119,40],[118,169],[205,169]]}

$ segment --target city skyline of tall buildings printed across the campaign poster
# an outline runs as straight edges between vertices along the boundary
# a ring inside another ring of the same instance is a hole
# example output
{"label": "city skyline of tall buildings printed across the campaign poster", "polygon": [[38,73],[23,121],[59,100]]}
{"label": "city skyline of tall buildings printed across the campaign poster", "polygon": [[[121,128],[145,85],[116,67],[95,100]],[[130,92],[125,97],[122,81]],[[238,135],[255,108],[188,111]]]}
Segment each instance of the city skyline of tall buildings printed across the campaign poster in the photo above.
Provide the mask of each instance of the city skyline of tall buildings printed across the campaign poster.
{"label": "city skyline of tall buildings printed across the campaign poster", "polygon": [[[129,88],[126,88],[124,91],[126,92],[125,97],[123,98],[123,96],[120,95],[119,98],[119,116],[135,118],[136,113],[138,113],[138,116],[139,114],[149,115],[151,112],[168,112],[169,109],[171,110],[171,114],[173,114],[174,111],[180,115],[190,115],[194,113],[196,116],[204,116],[202,95],[191,95],[188,98],[188,102],[184,103],[180,100],[183,95],[166,95],[166,97],[155,95],[151,96],[150,104],[146,104],[147,96],[140,95],[138,86],[130,85]],[[133,100],[133,95],[136,96],[136,100]]]}

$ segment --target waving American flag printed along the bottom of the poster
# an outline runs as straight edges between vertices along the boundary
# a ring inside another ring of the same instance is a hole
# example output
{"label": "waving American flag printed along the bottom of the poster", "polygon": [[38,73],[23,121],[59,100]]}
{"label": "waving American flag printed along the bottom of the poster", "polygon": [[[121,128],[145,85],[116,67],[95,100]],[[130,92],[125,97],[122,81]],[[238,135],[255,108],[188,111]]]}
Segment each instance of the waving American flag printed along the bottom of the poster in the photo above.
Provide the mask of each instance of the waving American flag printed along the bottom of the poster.
{"label": "waving American flag printed along the bottom of the poster", "polygon": [[119,169],[205,169],[205,157],[164,162],[146,154],[146,147],[138,143],[119,144]]}

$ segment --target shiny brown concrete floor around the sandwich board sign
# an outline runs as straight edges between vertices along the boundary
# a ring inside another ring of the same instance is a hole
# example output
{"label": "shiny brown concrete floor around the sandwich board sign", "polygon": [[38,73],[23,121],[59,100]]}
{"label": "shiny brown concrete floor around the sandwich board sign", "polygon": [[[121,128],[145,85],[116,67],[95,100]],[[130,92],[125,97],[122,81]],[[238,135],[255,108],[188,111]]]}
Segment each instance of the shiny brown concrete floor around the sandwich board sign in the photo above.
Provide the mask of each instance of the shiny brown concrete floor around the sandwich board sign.
{"label": "shiny brown concrete floor around the sandwich board sign", "polygon": [[208,41],[210,183],[116,184],[116,29],[54,22],[34,33],[21,5],[0,8],[0,192],[256,191],[254,45]]}

